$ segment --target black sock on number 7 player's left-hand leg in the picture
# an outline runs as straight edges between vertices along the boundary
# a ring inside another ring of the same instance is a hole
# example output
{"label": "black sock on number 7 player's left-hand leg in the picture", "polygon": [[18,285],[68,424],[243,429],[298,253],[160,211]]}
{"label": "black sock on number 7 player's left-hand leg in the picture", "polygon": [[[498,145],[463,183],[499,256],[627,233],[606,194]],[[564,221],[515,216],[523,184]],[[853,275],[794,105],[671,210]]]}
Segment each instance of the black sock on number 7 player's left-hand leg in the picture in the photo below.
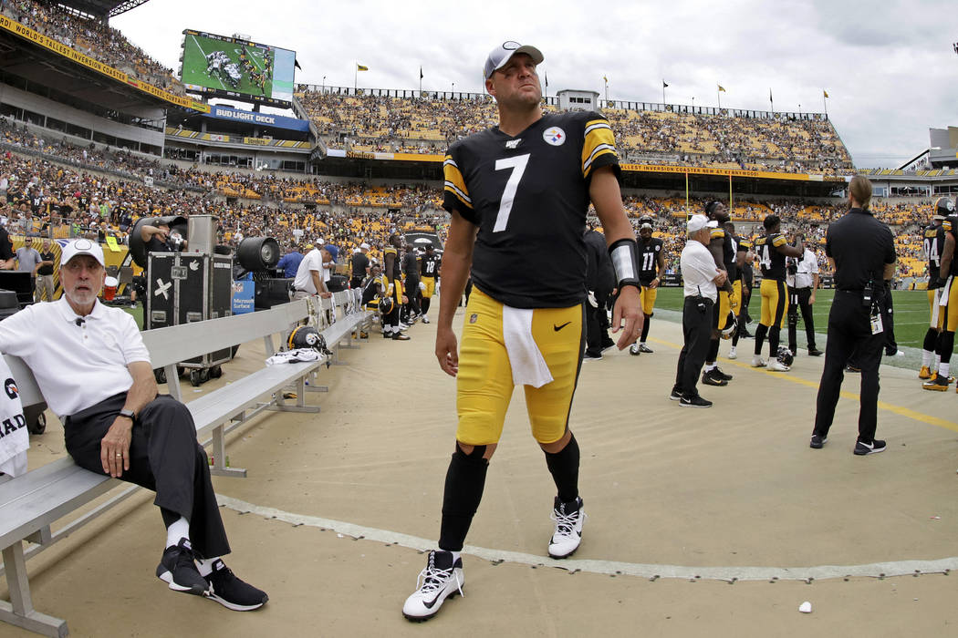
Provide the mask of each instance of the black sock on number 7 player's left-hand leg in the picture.
{"label": "black sock on number 7 player's left-hand leg in the picture", "polygon": [[449,469],[445,472],[443,522],[439,532],[439,548],[442,550],[460,552],[463,549],[469,525],[486,487],[489,461],[482,457],[485,452],[486,446],[476,446],[471,454],[465,454],[457,443],[456,451],[449,459]]}

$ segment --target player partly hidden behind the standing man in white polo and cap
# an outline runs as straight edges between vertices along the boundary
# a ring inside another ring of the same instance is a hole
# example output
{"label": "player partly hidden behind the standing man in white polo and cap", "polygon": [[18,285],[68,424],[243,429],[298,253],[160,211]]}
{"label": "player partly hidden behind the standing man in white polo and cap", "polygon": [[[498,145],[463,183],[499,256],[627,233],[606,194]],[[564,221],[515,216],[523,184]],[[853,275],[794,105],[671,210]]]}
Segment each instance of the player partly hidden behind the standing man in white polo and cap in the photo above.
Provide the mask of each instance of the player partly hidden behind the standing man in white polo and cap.
{"label": "player partly hidden behind the standing man in white polo and cap", "polygon": [[711,201],[705,205],[705,216],[709,220],[718,223],[718,226],[711,231],[709,240],[709,253],[716,260],[716,267],[724,271],[726,275],[725,282],[719,290],[719,302],[713,307],[712,339],[709,341],[709,351],[705,355],[705,367],[702,372],[703,385],[728,385],[732,381],[732,375],[726,374],[719,369],[716,360],[719,358],[719,334],[729,325],[729,321],[734,321],[734,317],[739,308],[739,302],[734,297],[735,279],[738,278],[738,248],[732,240],[732,235],[725,231],[724,224],[729,221],[728,209],[721,202]]}

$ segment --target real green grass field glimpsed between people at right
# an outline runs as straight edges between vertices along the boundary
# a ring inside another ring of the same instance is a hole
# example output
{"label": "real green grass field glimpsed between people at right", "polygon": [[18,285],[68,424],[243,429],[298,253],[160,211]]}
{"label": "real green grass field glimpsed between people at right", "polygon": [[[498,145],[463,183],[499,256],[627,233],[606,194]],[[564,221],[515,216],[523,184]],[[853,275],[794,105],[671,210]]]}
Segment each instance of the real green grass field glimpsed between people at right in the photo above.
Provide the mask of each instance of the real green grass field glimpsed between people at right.
{"label": "real green grass field glimpsed between people at right", "polygon": [[[815,332],[825,333],[829,323],[829,310],[832,308],[833,290],[819,290],[815,293],[812,306],[815,317]],[[924,333],[928,329],[928,297],[924,290],[896,290],[892,292],[895,307],[895,340],[904,347],[921,348]],[[655,298],[655,307],[666,310],[682,311],[682,289],[660,288]],[[756,321],[762,310],[762,297],[759,289],[752,291],[752,300],[748,304],[749,314]],[[801,313],[799,313],[798,331],[804,333]],[[751,327],[755,332],[755,325]]]}

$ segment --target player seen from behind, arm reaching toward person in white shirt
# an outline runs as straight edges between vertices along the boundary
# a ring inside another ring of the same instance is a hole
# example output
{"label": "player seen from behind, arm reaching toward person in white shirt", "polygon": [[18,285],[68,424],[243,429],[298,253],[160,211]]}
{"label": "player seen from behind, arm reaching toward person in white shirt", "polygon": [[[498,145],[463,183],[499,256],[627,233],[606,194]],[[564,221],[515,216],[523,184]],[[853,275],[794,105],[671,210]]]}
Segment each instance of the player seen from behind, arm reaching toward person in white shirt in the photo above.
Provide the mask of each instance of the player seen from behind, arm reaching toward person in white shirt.
{"label": "player seen from behind, arm reaching toward person in white shirt", "polygon": [[[755,356],[752,358],[754,367],[768,365],[769,370],[787,372],[788,366],[778,361],[778,346],[788,313],[788,287],[785,283],[786,257],[801,257],[805,247],[801,242],[795,246],[788,244],[786,236],[782,234],[782,220],[776,214],[764,218],[762,225],[765,234],[755,240],[755,252],[759,255],[759,265],[762,266],[762,319],[755,329]],[[768,362],[762,359],[762,346],[765,336],[768,336]]]}

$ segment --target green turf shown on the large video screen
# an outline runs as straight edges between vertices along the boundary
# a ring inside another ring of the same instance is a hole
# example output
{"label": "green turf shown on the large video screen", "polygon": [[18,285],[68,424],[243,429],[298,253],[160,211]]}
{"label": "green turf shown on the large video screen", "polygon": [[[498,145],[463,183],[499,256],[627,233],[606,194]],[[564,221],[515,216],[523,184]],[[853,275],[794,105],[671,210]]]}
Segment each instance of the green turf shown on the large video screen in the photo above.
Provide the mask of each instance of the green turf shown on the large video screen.
{"label": "green turf shown on the large video screen", "polygon": [[[239,44],[233,42],[224,42],[199,35],[187,34],[183,43],[183,82],[185,84],[206,86],[212,89],[221,89],[223,91],[238,91],[251,96],[271,97],[273,94],[272,74],[270,73],[269,77],[266,78],[265,86],[262,89],[253,84],[249,78],[249,73],[246,72],[239,62],[239,55],[242,54],[243,49],[246,50],[250,61],[258,71],[262,72],[265,67],[266,55],[270,57],[270,65],[275,69],[274,53],[272,51],[267,52],[258,47],[248,45],[241,47]],[[216,51],[223,52],[237,65],[240,78],[236,86],[227,81],[227,74],[225,72],[217,74],[211,71],[207,73],[206,56]]]}

